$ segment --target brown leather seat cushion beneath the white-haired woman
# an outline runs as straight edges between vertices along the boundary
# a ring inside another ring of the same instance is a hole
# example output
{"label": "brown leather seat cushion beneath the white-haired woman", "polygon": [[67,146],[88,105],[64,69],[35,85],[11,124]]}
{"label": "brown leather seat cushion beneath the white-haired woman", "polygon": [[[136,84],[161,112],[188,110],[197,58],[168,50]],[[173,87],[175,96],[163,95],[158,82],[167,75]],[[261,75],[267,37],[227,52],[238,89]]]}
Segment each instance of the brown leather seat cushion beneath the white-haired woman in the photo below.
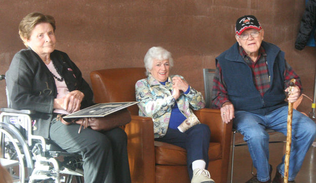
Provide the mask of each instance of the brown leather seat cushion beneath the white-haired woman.
{"label": "brown leather seat cushion beneath the white-haired woman", "polygon": [[[208,159],[221,158],[220,143],[210,143]],[[155,141],[155,162],[160,165],[187,165],[187,150],[178,146]]]}

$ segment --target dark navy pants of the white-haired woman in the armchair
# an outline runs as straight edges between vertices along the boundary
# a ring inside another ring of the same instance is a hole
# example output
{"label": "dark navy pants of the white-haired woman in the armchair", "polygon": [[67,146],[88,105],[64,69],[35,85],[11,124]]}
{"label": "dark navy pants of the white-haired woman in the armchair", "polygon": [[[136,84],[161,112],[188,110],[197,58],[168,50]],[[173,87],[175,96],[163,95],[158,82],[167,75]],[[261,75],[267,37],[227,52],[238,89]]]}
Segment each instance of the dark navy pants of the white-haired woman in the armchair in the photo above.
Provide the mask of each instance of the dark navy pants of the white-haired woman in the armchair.
{"label": "dark navy pants of the white-haired woman in the armchair", "polygon": [[206,124],[197,124],[184,133],[178,129],[168,128],[167,133],[162,138],[156,138],[155,141],[173,144],[187,150],[188,172],[192,179],[193,161],[203,159],[206,163],[205,169],[207,169],[210,134],[210,129]]}

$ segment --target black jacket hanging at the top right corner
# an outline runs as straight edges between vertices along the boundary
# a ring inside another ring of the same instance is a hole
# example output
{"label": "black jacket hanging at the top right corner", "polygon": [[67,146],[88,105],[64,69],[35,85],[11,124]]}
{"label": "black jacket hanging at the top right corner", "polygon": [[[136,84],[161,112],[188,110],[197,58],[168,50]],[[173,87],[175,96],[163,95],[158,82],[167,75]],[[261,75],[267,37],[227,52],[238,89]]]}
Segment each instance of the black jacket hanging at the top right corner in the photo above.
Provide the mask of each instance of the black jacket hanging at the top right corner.
{"label": "black jacket hanging at the top right corner", "polygon": [[[316,23],[316,0],[309,0],[306,4],[305,12],[303,14],[299,32],[297,34],[296,41],[295,41],[295,48],[297,50],[303,50],[315,23]],[[315,35],[315,38],[316,38],[316,35]]]}

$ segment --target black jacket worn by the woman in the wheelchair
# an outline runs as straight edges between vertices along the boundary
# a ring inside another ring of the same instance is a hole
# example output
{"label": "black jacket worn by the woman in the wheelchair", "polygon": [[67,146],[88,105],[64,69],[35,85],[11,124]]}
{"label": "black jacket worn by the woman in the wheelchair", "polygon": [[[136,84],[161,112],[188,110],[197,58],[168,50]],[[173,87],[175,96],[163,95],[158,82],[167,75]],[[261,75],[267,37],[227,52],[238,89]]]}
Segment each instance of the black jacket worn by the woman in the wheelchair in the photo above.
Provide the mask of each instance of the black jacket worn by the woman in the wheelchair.
{"label": "black jacket worn by the woman in the wheelchair", "polygon": [[[61,71],[69,91],[80,90],[84,94],[81,109],[93,105],[92,89],[68,55],[55,50],[51,53],[51,59]],[[9,107],[36,111],[32,116],[33,134],[48,138],[54,99],[57,96],[57,87],[50,70],[31,49],[21,50],[13,57],[6,72],[6,82]]]}

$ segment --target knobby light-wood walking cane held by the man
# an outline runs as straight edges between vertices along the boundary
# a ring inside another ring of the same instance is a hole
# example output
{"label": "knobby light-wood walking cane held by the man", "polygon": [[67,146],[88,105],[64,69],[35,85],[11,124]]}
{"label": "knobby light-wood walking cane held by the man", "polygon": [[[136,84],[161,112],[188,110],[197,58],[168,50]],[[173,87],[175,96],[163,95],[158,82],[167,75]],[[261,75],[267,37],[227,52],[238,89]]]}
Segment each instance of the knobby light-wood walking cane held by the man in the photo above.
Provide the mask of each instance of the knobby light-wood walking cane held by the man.
{"label": "knobby light-wood walking cane held by the man", "polygon": [[[295,86],[295,79],[291,79],[290,88],[288,96],[291,94],[293,86]],[[285,150],[285,161],[284,161],[284,183],[288,183],[289,178],[289,160],[290,160],[290,151],[292,143],[292,115],[293,115],[293,103],[289,102],[288,109],[288,124],[287,124],[287,135],[286,135],[286,150]]]}

